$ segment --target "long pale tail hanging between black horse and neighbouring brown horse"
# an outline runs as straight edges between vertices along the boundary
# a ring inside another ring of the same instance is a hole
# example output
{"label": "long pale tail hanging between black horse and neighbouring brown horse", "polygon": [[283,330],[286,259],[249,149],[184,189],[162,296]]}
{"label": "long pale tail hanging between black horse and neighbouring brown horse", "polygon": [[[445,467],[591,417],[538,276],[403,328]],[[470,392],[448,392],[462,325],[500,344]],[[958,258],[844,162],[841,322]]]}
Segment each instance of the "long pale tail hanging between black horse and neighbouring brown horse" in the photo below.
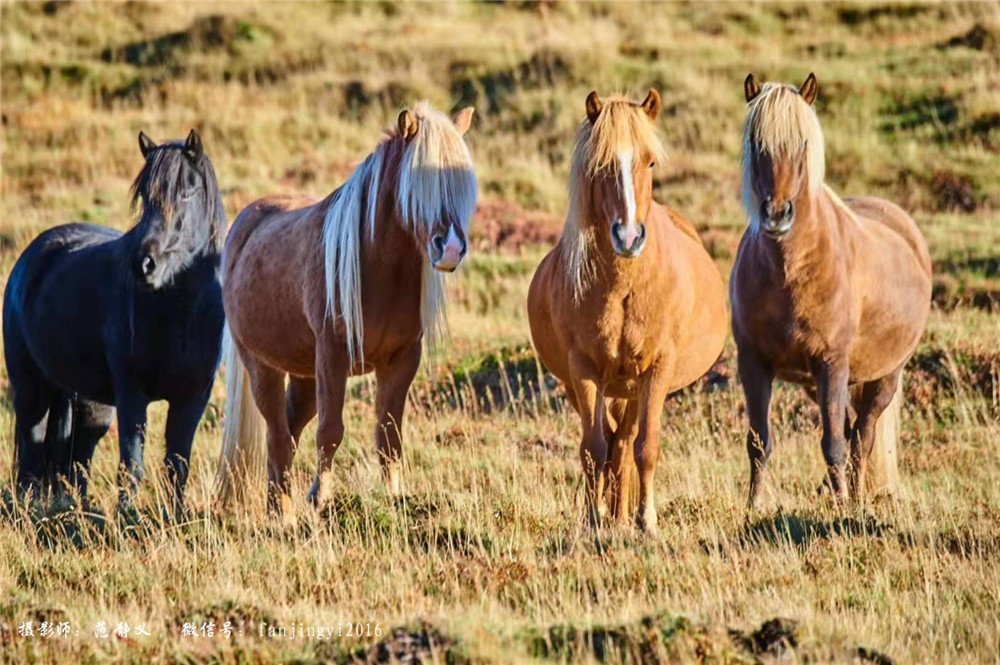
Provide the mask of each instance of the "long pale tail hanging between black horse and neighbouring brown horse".
{"label": "long pale tail hanging between black horse and neighbouring brown horse", "polygon": [[216,487],[225,506],[233,498],[243,499],[247,488],[263,486],[267,430],[253,401],[250,373],[240,359],[228,323],[222,333],[222,362],[226,366],[226,411]]}

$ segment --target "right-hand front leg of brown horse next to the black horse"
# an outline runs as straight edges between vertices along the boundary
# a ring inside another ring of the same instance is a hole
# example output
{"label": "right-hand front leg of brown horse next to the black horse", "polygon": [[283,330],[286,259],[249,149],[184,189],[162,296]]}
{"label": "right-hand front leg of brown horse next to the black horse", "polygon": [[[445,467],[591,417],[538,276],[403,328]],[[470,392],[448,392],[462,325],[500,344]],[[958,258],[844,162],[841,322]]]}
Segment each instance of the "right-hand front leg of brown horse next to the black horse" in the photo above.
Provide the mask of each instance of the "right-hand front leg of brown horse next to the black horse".
{"label": "right-hand front leg of brown horse next to the black horse", "polygon": [[420,344],[397,351],[388,363],[375,368],[378,383],[375,410],[375,447],[378,451],[382,474],[389,492],[398,496],[402,492],[400,466],[403,459],[403,410],[406,395],[420,367]]}

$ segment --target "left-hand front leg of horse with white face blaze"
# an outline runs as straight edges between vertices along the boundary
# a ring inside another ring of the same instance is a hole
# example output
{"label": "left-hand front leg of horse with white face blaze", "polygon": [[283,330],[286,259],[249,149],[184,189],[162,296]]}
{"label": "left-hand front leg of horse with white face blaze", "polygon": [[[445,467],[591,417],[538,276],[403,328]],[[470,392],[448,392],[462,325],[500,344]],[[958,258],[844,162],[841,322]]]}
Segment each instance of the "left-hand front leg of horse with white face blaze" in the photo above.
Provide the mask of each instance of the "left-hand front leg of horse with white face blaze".
{"label": "left-hand front leg of horse with white face blaze", "polygon": [[596,529],[601,526],[600,480],[608,460],[608,441],[604,434],[604,386],[597,379],[593,363],[582,353],[570,353],[569,372],[583,425],[580,464],[587,484],[587,517]]}

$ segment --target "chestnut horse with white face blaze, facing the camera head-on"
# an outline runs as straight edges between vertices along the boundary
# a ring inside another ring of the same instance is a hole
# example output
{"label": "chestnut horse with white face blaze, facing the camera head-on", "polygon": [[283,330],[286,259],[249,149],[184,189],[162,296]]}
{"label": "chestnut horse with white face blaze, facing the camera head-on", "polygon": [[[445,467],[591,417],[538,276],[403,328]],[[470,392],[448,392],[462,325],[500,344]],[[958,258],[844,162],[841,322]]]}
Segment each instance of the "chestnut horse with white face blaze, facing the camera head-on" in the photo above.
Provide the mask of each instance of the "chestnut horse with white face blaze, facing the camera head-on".
{"label": "chestnut horse with white face blaze, facing the camera head-on", "polygon": [[663,404],[722,352],[725,287],[691,223],[653,201],[659,94],[634,104],[592,92],[586,110],[566,225],[528,293],[531,336],[583,423],[591,524],[602,494],[615,519],[636,508],[637,475],[636,521],[655,532]]}

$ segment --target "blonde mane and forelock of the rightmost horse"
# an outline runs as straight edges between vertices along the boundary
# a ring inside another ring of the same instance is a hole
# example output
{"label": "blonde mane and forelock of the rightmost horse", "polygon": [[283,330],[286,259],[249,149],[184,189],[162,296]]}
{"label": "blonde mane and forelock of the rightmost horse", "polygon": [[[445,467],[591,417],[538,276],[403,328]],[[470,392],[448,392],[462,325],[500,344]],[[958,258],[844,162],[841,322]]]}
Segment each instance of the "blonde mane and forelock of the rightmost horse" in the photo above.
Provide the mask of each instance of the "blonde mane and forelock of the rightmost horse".
{"label": "blonde mane and forelock of the rightmost horse", "polygon": [[752,184],[754,150],[774,159],[790,159],[805,150],[809,191],[819,192],[826,170],[823,130],[816,111],[796,88],[767,83],[747,105],[743,124],[742,197],[750,227],[756,230],[760,226],[761,201]]}

